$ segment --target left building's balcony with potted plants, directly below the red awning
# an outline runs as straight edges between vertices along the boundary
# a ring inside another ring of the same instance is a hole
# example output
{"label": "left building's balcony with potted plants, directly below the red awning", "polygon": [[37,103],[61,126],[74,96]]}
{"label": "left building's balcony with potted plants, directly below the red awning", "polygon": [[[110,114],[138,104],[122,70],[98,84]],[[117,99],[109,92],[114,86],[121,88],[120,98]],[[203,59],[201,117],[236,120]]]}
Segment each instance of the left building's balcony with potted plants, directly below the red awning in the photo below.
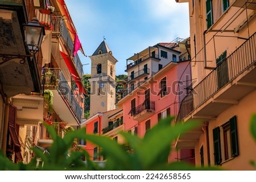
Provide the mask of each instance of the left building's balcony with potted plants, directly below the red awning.
{"label": "left building's balcony with potted plants, directly below the red awning", "polygon": [[53,106],[61,120],[68,122],[68,125],[80,125],[82,109],[77,102],[73,90],[65,79],[64,75],[70,77],[70,73],[61,69],[47,69],[43,75],[43,87],[53,92]]}

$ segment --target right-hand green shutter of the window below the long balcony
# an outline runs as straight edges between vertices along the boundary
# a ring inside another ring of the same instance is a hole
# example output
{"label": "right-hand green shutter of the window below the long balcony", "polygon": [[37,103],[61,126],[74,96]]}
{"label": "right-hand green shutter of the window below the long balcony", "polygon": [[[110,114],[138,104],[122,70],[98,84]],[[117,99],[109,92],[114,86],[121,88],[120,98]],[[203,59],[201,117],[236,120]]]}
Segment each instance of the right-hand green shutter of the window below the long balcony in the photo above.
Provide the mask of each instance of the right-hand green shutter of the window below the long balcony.
{"label": "right-hand green shutter of the window below the long balcony", "polygon": [[237,117],[236,115],[229,119],[230,122],[230,133],[231,133],[231,146],[232,156],[238,156],[238,139],[237,139]]}

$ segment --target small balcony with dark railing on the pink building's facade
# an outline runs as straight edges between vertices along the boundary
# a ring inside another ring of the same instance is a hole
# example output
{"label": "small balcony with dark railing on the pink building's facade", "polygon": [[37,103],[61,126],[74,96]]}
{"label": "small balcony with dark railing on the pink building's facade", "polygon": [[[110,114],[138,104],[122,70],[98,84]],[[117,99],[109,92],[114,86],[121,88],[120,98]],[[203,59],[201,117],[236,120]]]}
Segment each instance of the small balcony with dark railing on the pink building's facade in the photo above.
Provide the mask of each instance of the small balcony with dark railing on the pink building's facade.
{"label": "small balcony with dark railing on the pink building's facade", "polygon": [[155,113],[155,102],[154,101],[144,101],[143,104],[135,107],[133,113],[133,119],[136,121],[143,121],[144,119],[150,117],[150,115]]}

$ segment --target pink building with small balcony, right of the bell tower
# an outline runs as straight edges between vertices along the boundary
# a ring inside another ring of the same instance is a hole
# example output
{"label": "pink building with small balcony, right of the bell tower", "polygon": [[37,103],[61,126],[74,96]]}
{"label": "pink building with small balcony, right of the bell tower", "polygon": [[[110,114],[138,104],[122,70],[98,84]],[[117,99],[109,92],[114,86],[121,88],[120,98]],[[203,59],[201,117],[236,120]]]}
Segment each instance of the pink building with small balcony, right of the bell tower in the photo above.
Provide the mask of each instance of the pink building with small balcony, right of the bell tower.
{"label": "pink building with small balcony, right of the bell tower", "polygon": [[[190,61],[171,61],[117,103],[123,107],[125,131],[143,137],[161,118],[177,115],[179,103],[191,87],[190,64]],[[169,161],[178,159],[190,160],[191,151],[170,154]]]}

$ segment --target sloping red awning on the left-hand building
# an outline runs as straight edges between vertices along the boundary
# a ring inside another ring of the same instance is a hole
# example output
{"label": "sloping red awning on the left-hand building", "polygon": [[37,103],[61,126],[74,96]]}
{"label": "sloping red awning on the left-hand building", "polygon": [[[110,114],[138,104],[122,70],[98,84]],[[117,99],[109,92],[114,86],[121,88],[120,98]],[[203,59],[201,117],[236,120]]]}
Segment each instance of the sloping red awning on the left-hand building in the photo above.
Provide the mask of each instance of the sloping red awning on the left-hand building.
{"label": "sloping red awning on the left-hand building", "polygon": [[75,65],[73,64],[73,61],[64,52],[60,51],[60,53],[61,53],[61,56],[63,57],[63,59],[65,60],[65,63],[67,64],[67,67],[68,67],[69,71],[71,72],[73,78],[75,79],[76,85],[79,88],[79,91],[88,96],[88,93],[86,92],[84,85],[82,85],[82,80],[79,78],[79,73],[77,73]]}

